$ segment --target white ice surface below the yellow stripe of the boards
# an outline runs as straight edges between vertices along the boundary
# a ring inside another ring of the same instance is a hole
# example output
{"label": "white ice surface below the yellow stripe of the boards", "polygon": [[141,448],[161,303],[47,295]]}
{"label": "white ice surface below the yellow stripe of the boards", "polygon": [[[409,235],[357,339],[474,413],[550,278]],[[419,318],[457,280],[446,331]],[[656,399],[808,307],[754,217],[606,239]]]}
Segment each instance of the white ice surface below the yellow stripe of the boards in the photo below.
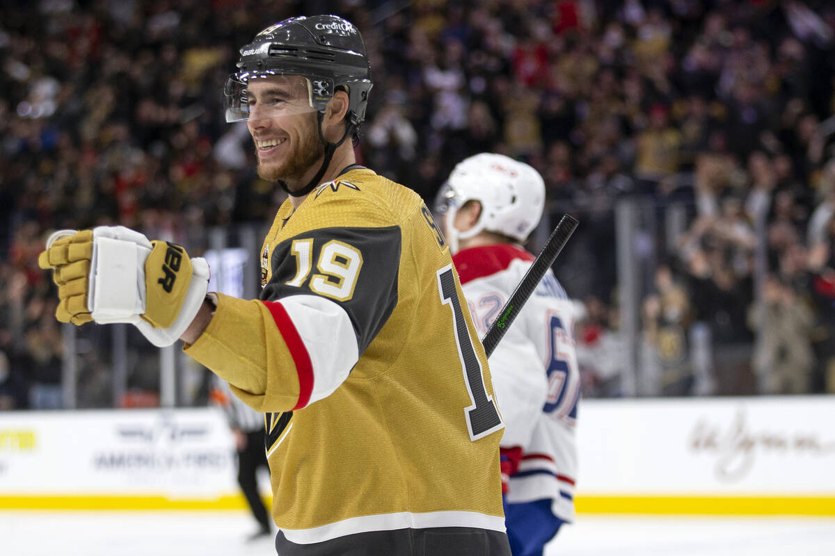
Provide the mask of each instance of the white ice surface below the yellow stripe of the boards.
{"label": "white ice surface below the yellow stripe of the boards", "polygon": [[[3,556],[271,556],[242,511],[0,511]],[[580,515],[545,556],[833,556],[835,519]],[[428,555],[429,556],[429,555]]]}

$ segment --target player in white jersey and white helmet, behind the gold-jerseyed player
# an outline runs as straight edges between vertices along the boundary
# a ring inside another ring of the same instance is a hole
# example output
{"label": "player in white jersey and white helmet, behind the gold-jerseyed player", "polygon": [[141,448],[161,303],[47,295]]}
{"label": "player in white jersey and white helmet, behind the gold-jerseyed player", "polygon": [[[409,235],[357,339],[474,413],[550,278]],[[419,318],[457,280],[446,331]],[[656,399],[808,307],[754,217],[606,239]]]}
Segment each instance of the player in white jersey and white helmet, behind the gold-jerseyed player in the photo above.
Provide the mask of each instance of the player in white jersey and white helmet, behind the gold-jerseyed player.
{"label": "player in white jersey and white helmet, behind the gold-jerseyed player", "polygon": [[[521,243],[539,223],[544,183],[528,164],[481,153],[453,169],[439,196],[453,263],[480,335],[534,260]],[[574,520],[580,397],[572,303],[550,270],[489,358],[504,416],[506,525],[514,556],[541,556]]]}

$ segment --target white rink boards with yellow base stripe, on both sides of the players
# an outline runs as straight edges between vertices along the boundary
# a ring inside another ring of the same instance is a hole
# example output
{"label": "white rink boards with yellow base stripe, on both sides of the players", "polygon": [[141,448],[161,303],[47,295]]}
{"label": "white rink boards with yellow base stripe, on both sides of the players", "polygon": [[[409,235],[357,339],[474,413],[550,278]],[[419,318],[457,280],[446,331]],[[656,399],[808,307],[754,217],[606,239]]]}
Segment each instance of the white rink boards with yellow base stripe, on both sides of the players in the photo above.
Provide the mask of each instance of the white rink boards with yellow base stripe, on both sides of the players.
{"label": "white rink boards with yellow base stripe, on both sides of the players", "polygon": [[[833,396],[585,400],[578,423],[579,513],[835,516]],[[243,507],[215,409],[0,413],[0,508]]]}

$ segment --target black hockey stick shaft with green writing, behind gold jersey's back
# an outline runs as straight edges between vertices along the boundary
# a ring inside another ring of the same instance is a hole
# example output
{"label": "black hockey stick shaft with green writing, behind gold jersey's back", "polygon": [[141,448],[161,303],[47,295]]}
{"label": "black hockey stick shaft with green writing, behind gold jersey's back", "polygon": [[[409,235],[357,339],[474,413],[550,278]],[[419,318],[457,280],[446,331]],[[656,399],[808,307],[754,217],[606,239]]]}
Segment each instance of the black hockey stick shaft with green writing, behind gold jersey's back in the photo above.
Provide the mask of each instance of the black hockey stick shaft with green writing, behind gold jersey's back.
{"label": "black hockey stick shaft with green writing, behind gold jersey's back", "polygon": [[498,313],[498,318],[493,321],[490,329],[484,334],[484,338],[481,338],[481,343],[483,343],[484,351],[487,352],[488,357],[493,353],[493,349],[501,341],[504,333],[508,331],[510,323],[513,323],[514,318],[519,315],[519,311],[524,303],[528,301],[530,294],[534,293],[534,289],[539,285],[539,280],[554,264],[554,260],[565,247],[565,243],[568,243],[578,224],[577,219],[568,214],[564,214],[563,218],[559,220],[559,224],[551,232],[539,255],[534,259],[534,263],[530,265],[528,272],[522,277],[522,281],[519,282],[514,293],[508,299],[508,303],[504,303],[504,307]]}

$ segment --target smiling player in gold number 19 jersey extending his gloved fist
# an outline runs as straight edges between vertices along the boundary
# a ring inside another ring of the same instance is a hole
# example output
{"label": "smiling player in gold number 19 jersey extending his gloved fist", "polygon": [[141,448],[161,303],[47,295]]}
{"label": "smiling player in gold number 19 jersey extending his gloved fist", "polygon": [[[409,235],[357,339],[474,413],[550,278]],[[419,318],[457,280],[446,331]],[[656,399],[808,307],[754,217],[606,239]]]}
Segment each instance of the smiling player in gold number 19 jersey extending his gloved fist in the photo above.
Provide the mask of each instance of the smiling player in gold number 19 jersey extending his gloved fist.
{"label": "smiling player in gold number 19 jersey extending his gloved fist", "polygon": [[358,166],[347,141],[372,86],[360,33],[293,18],[240,53],[226,118],[246,121],[261,177],[290,194],[261,298],[207,294],[202,259],[96,228],[42,253],[58,318],[182,338],[265,413],[279,554],[509,556],[504,423],[448,246],[417,194]]}

